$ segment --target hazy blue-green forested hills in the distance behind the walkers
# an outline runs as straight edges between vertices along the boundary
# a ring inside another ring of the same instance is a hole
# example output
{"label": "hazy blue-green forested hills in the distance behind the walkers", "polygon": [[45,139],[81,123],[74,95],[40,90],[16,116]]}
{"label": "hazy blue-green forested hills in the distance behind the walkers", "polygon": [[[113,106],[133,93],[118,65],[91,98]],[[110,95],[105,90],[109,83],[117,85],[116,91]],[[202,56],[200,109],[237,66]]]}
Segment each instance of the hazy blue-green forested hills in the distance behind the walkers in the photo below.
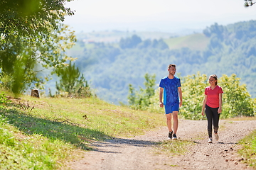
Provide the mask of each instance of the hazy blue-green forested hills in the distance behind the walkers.
{"label": "hazy blue-green forested hills in the distance behind the walkers", "polygon": [[237,74],[256,97],[256,21],[209,26],[203,33],[183,37],[142,38],[132,35],[118,42],[83,42],[69,51],[100,98],[127,103],[129,84],[142,86],[146,73],[156,74],[156,88],[169,64],[176,74]]}

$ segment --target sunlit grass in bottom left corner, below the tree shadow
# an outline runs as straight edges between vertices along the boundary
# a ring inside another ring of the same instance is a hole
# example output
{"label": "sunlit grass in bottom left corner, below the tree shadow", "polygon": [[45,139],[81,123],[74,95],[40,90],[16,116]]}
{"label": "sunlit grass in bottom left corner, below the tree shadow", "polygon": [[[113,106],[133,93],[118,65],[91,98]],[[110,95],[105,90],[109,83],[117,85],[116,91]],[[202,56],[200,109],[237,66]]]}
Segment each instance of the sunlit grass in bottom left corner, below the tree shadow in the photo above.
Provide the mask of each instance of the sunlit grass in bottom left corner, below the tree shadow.
{"label": "sunlit grass in bottom left corner, below the tree shadow", "polygon": [[1,169],[58,169],[65,159],[73,158],[75,149],[60,140],[24,135],[0,115]]}

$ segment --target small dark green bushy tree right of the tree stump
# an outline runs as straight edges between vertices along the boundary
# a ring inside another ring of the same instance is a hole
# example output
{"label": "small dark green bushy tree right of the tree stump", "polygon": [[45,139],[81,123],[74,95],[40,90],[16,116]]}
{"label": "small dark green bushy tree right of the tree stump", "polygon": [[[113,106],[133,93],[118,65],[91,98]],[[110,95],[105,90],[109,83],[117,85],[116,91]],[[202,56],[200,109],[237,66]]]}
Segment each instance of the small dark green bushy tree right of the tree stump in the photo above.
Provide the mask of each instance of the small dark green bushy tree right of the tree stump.
{"label": "small dark green bushy tree right of the tree stump", "polygon": [[60,83],[56,81],[56,89],[58,94],[68,93],[68,97],[90,97],[92,92],[90,86],[85,80],[83,74],[80,73],[75,63],[68,64],[67,67],[56,70],[56,74],[60,77]]}

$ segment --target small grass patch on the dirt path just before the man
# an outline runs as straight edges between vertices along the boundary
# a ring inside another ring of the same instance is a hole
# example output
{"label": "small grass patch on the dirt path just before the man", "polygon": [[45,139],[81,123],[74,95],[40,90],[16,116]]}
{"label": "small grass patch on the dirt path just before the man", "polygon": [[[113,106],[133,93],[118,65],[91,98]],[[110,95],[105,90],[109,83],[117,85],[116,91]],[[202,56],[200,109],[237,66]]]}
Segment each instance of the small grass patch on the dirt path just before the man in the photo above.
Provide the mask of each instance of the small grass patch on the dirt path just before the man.
{"label": "small grass patch on the dirt path just before the man", "polygon": [[156,142],[156,154],[166,153],[167,155],[181,155],[188,152],[188,147],[195,143],[188,140],[164,140]]}

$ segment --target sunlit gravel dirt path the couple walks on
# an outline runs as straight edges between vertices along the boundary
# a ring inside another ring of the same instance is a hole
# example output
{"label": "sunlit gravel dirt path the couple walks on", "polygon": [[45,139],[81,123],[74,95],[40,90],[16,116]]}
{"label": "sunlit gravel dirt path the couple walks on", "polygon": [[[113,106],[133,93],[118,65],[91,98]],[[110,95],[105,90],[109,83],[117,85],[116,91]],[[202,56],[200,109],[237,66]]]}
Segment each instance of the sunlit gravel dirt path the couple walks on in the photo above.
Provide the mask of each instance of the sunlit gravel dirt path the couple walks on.
{"label": "sunlit gravel dirt path the couple walks on", "polygon": [[68,164],[70,169],[250,169],[237,154],[237,142],[256,128],[256,120],[220,120],[217,142],[208,144],[206,120],[179,120],[178,141],[187,142],[187,152],[164,152],[156,142],[168,140],[166,127],[132,138],[92,143],[93,151]]}

